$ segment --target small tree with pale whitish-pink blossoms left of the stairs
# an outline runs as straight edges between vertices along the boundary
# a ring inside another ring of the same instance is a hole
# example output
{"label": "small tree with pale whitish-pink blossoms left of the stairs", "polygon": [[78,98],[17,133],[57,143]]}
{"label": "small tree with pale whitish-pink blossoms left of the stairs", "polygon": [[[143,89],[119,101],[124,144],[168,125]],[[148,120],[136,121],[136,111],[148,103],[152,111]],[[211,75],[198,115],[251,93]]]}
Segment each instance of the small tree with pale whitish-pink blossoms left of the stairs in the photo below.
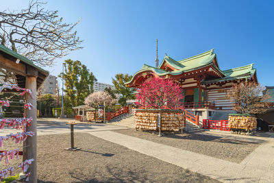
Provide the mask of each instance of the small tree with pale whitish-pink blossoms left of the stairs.
{"label": "small tree with pale whitish-pink blossoms left of the stairs", "polygon": [[87,106],[90,106],[96,109],[98,108],[99,105],[103,105],[103,102],[105,102],[105,107],[110,109],[114,107],[117,100],[113,99],[112,96],[105,91],[91,93],[85,99],[85,104]]}

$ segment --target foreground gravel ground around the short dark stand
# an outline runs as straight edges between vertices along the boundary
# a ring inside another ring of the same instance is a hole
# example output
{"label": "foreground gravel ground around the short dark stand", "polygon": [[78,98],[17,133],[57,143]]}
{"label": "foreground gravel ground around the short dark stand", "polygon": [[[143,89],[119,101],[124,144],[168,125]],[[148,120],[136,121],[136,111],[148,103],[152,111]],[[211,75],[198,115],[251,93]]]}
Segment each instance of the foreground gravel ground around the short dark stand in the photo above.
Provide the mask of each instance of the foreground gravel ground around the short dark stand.
{"label": "foreground gravel ground around the short dark stand", "polygon": [[70,134],[38,136],[38,182],[219,182],[90,134],[75,133],[81,151],[69,146]]}

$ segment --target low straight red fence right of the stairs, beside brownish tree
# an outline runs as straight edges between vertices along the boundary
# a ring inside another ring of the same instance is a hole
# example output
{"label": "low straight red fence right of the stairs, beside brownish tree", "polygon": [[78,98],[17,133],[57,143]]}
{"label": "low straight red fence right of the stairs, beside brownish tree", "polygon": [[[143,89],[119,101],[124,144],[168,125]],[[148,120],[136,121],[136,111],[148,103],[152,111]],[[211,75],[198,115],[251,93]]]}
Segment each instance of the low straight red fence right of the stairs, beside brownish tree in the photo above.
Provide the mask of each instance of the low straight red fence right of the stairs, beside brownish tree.
{"label": "low straight red fence right of the stairs, beside brownish tree", "polygon": [[203,128],[230,131],[230,128],[228,127],[228,120],[203,119]]}

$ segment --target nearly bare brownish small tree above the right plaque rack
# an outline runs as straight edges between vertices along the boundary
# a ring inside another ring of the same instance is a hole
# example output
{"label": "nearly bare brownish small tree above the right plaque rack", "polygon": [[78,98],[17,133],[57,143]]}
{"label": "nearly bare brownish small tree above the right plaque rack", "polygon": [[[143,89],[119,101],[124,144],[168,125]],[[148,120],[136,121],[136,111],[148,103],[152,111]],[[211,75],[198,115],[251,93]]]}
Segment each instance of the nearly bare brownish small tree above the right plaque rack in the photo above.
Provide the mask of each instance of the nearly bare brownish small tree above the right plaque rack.
{"label": "nearly bare brownish small tree above the right plaque rack", "polygon": [[268,93],[263,95],[264,87],[256,82],[234,84],[227,97],[234,103],[233,110],[240,114],[262,114],[269,108]]}

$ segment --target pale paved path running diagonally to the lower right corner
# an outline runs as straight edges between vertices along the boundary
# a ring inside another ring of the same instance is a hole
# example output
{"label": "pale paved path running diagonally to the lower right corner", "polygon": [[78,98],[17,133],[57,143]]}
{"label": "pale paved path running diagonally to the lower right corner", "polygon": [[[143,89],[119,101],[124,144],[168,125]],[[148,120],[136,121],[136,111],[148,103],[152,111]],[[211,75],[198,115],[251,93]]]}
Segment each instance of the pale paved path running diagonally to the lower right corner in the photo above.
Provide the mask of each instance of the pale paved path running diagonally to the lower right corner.
{"label": "pale paved path running diagonally to the lower right corner", "polygon": [[274,182],[274,136],[237,164],[116,132],[89,134],[222,182]]}

